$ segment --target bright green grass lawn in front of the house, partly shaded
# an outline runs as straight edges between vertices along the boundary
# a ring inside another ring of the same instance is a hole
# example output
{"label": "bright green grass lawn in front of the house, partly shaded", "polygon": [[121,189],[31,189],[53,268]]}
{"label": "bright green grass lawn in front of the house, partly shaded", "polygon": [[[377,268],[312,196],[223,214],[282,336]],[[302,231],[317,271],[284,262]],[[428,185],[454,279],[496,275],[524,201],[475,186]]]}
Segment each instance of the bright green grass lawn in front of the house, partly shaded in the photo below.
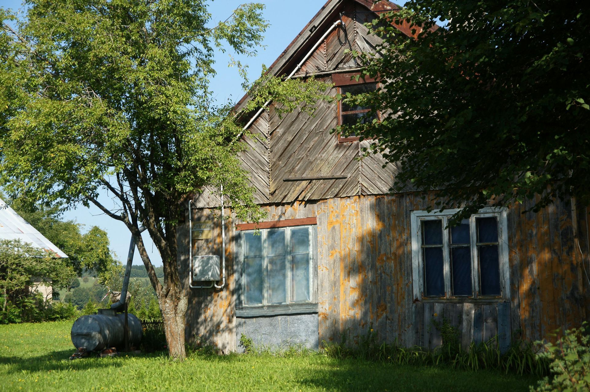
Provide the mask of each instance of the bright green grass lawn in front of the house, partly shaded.
{"label": "bright green grass lawn in front of the house, partly shaded", "polygon": [[69,361],[72,321],[0,325],[0,391],[526,391],[530,376],[336,360],[322,354],[163,354]]}

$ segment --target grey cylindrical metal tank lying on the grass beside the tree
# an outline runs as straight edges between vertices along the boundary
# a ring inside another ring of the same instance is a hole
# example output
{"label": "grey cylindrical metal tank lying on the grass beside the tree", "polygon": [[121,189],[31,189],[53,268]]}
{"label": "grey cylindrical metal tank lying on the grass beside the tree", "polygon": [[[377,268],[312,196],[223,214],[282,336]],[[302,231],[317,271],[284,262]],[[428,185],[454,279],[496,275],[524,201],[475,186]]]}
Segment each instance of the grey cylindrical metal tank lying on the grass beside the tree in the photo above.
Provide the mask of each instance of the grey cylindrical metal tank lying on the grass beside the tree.
{"label": "grey cylindrical metal tank lying on the grass beside the tree", "polygon": [[[114,313],[114,312],[113,312]],[[71,338],[76,348],[103,350],[103,348],[124,348],[124,314],[91,314],[78,317],[72,325]],[[127,315],[129,346],[142,339],[142,323],[132,314]]]}

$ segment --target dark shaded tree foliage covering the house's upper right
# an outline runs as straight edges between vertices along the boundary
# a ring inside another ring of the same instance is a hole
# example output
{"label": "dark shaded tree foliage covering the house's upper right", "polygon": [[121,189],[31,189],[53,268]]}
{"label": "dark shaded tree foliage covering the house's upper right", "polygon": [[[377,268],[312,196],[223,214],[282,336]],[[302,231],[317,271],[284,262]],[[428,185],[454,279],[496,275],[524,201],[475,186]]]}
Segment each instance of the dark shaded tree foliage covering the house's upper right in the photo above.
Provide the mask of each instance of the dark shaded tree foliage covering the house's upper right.
{"label": "dark shaded tree foliage covering the house's upper right", "polygon": [[411,0],[370,27],[378,55],[355,55],[382,88],[345,99],[380,121],[345,133],[401,164],[394,189],[438,189],[462,216],[491,198],[590,203],[587,2]]}

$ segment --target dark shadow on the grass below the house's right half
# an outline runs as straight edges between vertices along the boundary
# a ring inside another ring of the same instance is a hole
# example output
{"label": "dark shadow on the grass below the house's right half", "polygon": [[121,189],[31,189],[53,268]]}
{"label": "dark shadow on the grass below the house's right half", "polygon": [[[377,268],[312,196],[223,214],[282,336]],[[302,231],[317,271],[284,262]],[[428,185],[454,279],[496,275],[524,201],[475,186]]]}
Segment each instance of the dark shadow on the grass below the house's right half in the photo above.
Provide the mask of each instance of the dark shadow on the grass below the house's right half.
{"label": "dark shadow on the grass below the house's right half", "polygon": [[330,391],[528,391],[538,378],[497,371],[459,371],[341,360],[301,374],[301,386]]}

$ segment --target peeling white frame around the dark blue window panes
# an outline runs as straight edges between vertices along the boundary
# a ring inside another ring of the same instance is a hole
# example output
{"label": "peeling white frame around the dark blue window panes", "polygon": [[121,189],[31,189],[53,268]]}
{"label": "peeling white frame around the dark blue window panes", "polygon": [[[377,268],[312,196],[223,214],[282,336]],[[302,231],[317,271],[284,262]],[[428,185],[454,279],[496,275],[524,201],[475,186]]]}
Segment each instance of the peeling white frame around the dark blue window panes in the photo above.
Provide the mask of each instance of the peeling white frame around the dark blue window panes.
{"label": "peeling white frame around the dark blue window panes", "polygon": [[[451,295],[451,265],[450,265],[450,229],[445,229],[451,215],[459,209],[447,209],[442,212],[412,211],[412,286],[414,299],[419,301],[452,301],[452,300],[490,300],[510,298],[510,266],[508,252],[508,219],[506,209],[502,207],[485,207],[469,217],[470,248],[471,248],[471,288],[473,296]],[[476,218],[494,216],[498,220],[498,263],[500,274],[500,295],[480,295],[478,279],[478,257],[476,246]],[[426,297],[424,292],[424,261],[422,260],[422,224],[424,220],[442,219],[442,254],[444,275],[444,297]]]}

